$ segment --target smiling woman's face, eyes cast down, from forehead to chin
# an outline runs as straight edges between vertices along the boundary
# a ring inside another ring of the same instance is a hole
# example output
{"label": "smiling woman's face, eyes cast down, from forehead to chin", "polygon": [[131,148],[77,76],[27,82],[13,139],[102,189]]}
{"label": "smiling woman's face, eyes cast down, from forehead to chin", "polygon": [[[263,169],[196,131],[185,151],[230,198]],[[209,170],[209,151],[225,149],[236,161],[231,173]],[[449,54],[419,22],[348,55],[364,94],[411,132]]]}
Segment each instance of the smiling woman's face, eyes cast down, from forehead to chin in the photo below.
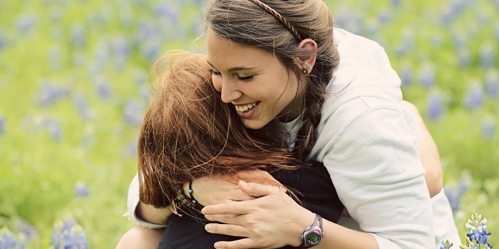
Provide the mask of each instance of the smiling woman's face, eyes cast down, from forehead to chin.
{"label": "smiling woman's face, eyes cast down, from forehead to chin", "polygon": [[217,36],[207,28],[207,61],[222,101],[234,105],[242,123],[259,129],[275,117],[282,122],[299,115],[298,80],[271,53]]}

